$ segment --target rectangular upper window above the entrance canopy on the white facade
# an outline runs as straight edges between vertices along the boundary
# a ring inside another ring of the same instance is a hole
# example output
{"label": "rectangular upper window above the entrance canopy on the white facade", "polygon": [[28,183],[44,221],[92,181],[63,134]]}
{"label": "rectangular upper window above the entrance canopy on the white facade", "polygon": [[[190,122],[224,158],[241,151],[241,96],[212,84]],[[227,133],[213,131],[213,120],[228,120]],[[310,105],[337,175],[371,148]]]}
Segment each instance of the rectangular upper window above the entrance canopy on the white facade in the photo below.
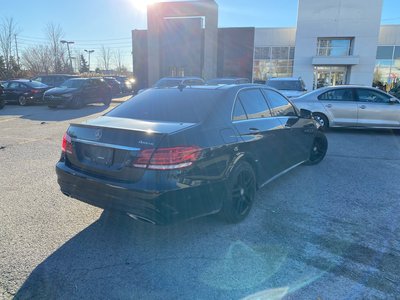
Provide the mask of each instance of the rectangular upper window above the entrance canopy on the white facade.
{"label": "rectangular upper window above the entrance canopy on the white facade", "polygon": [[317,56],[349,56],[353,38],[318,38]]}

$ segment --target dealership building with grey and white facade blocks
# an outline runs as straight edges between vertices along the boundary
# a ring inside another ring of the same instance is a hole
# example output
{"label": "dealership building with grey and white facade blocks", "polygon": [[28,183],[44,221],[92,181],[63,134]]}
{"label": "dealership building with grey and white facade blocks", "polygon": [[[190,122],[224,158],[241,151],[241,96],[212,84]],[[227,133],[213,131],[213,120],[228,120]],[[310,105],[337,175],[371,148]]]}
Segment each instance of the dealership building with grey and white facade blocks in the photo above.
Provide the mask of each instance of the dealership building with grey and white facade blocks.
{"label": "dealership building with grey and white facade blocks", "polygon": [[218,28],[214,0],[148,7],[132,31],[139,87],[165,76],[301,77],[307,88],[393,83],[400,25],[381,25],[382,0],[299,0],[295,28]]}

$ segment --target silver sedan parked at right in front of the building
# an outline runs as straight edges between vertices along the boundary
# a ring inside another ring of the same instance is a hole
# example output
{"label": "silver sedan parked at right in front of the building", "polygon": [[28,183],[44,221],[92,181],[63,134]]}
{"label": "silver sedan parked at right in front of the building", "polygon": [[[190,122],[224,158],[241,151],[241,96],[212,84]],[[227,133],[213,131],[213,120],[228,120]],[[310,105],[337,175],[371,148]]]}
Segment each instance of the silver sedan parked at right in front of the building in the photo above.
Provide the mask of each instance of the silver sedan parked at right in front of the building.
{"label": "silver sedan parked at right in front of the building", "polygon": [[400,100],[376,88],[324,87],[292,98],[298,108],[313,112],[328,127],[400,128]]}

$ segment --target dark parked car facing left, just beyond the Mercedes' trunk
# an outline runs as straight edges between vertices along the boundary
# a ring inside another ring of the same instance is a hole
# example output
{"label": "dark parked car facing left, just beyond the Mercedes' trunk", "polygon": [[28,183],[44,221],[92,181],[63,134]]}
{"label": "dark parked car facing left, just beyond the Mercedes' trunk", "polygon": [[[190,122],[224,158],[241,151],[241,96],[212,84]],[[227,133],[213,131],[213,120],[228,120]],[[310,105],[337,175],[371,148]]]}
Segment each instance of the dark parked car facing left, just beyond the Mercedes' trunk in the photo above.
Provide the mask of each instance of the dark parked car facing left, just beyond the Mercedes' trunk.
{"label": "dark parked car facing left, just beyond the Mercedes' trunk", "polygon": [[44,101],[50,108],[80,108],[96,102],[109,105],[111,100],[111,87],[102,78],[68,79],[60,87],[52,88],[44,94]]}

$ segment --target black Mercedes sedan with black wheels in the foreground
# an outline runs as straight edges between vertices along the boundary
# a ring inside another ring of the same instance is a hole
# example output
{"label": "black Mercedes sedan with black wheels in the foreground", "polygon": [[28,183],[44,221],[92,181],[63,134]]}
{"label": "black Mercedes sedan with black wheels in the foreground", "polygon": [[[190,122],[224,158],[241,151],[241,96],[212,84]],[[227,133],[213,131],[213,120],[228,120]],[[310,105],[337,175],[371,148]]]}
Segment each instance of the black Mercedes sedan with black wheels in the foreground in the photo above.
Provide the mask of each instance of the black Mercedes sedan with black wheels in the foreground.
{"label": "black Mercedes sedan with black wheels in the foreground", "polygon": [[65,195],[134,219],[236,223],[258,188],[326,151],[311,113],[268,87],[151,89],[71,124],[56,172]]}

